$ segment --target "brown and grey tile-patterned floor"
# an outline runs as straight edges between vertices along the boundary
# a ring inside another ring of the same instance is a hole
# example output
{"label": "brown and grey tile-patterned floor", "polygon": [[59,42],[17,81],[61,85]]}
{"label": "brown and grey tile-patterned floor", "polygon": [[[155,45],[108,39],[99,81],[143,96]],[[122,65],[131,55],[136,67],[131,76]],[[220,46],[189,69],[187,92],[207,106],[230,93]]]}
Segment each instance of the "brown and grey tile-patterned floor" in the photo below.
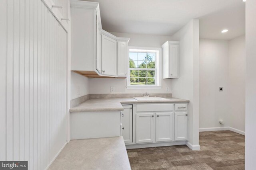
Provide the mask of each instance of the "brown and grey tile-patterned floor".
{"label": "brown and grey tile-patterned floor", "polygon": [[128,149],[132,170],[244,170],[244,136],[232,131],[199,133],[201,150],[186,145]]}

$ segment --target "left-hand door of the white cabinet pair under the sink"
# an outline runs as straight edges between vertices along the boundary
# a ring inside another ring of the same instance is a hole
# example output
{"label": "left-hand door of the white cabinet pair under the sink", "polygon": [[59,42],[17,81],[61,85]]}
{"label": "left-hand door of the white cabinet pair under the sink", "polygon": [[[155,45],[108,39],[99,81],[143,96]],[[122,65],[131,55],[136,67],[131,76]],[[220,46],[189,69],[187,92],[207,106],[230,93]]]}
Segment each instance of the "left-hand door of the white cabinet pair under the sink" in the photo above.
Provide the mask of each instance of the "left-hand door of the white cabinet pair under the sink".
{"label": "left-hand door of the white cabinet pair under the sink", "polygon": [[154,113],[136,114],[136,143],[154,142]]}

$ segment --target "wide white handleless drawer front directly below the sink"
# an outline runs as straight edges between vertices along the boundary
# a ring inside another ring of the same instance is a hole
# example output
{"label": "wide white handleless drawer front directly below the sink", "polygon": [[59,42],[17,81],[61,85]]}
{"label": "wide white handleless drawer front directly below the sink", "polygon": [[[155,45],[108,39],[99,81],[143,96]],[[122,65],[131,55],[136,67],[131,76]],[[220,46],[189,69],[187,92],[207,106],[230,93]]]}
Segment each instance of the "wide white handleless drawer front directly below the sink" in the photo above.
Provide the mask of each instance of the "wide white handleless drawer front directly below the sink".
{"label": "wide white handleless drawer front directly below the sink", "polygon": [[173,111],[173,104],[138,104],[136,111]]}

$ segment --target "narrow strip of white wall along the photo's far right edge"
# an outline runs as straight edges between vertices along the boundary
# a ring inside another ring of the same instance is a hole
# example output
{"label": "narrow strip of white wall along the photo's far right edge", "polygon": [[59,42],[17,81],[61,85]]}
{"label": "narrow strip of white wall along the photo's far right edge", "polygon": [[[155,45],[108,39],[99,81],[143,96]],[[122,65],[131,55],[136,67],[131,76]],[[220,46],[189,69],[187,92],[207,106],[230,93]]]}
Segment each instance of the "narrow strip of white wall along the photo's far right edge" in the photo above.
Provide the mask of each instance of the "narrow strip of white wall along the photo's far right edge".
{"label": "narrow strip of white wall along the photo's far right edge", "polygon": [[246,118],[245,169],[254,170],[256,160],[256,1],[246,1]]}

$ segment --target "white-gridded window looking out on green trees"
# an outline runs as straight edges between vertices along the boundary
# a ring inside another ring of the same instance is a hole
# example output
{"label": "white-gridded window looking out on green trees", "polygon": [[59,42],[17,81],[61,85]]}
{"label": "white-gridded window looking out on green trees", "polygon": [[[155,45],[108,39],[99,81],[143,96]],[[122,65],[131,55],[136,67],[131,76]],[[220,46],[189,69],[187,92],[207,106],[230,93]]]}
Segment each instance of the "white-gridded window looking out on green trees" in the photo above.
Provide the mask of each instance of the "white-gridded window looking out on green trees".
{"label": "white-gridded window looking out on green trees", "polygon": [[159,50],[130,49],[127,87],[155,87],[158,81]]}

